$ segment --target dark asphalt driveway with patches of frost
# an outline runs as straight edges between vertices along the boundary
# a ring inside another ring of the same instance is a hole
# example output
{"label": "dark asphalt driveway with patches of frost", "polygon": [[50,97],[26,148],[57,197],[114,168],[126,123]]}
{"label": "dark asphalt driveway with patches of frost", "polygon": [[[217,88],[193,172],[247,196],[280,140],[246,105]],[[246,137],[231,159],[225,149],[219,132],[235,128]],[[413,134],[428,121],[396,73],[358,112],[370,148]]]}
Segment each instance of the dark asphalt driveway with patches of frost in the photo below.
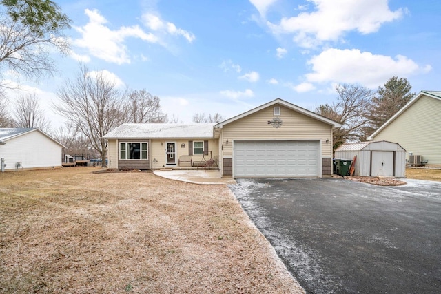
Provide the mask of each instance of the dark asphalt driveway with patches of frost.
{"label": "dark asphalt driveway with patches of frost", "polygon": [[441,182],[237,182],[230,189],[308,293],[439,293]]}

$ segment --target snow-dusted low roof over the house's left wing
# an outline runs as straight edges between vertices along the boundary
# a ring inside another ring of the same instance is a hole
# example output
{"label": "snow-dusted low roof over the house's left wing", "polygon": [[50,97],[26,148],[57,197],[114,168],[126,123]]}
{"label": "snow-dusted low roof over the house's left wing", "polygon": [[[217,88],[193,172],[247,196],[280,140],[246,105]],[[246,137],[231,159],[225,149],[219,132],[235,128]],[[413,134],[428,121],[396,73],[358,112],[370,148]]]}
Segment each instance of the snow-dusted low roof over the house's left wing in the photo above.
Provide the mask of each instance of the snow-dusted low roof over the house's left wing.
{"label": "snow-dusted low roof over the house's left wing", "polygon": [[214,123],[125,123],[105,134],[105,139],[214,138]]}

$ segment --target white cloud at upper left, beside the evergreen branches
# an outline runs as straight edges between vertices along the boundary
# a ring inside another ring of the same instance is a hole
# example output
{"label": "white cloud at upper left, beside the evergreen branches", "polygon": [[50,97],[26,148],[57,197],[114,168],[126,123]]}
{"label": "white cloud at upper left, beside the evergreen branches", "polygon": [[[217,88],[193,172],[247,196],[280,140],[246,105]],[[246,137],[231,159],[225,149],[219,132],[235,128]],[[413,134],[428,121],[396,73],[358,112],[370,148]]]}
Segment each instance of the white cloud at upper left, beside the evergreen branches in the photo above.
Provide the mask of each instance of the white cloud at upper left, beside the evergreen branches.
{"label": "white cloud at upper left, beside the evergreen branches", "polygon": [[85,10],[89,22],[83,27],[74,27],[81,33],[81,39],[74,39],[74,45],[85,48],[89,54],[110,63],[130,63],[125,39],[133,37],[150,43],[157,43],[158,38],[154,34],[146,33],[138,25],[121,27],[118,30],[110,30],[105,26],[107,20],[98,10]]}

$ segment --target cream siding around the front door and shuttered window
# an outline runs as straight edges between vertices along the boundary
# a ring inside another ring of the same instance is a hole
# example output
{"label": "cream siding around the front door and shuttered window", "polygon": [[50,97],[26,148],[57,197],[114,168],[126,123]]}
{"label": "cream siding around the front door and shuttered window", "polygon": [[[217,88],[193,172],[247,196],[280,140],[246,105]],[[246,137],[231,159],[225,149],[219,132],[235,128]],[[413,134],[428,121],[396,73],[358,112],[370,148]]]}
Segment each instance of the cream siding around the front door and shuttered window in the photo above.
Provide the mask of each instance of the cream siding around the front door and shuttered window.
{"label": "cream siding around the front door and shuttered window", "polygon": [[[216,139],[191,139],[192,141],[204,141],[204,140],[208,140],[208,151],[212,151],[212,157],[214,156],[219,156],[219,141]],[[150,151],[151,151],[151,165],[152,165],[152,169],[158,169],[161,167],[165,167],[166,165],[166,150],[165,150],[165,143],[170,142],[170,143],[176,143],[176,165],[178,164],[178,159],[179,156],[181,155],[188,155],[188,141],[189,139],[186,140],[151,140],[150,143]],[[161,143],[163,145],[161,145]],[[182,145],[184,145],[184,147],[181,147]],[[153,160],[156,158],[157,162],[153,162]],[[192,156],[192,160],[193,161],[200,161],[202,160],[203,156],[202,155],[193,155]],[[205,156],[205,160],[209,160],[210,158],[210,154]]]}

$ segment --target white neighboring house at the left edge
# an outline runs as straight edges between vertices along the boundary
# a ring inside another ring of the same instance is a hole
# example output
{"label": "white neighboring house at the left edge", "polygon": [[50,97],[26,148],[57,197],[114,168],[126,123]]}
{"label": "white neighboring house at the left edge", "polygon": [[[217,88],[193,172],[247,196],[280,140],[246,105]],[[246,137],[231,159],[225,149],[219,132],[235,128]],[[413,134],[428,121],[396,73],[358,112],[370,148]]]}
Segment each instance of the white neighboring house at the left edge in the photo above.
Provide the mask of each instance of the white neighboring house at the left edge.
{"label": "white neighboring house at the left edge", "polygon": [[1,170],[61,167],[63,147],[38,128],[0,128]]}

